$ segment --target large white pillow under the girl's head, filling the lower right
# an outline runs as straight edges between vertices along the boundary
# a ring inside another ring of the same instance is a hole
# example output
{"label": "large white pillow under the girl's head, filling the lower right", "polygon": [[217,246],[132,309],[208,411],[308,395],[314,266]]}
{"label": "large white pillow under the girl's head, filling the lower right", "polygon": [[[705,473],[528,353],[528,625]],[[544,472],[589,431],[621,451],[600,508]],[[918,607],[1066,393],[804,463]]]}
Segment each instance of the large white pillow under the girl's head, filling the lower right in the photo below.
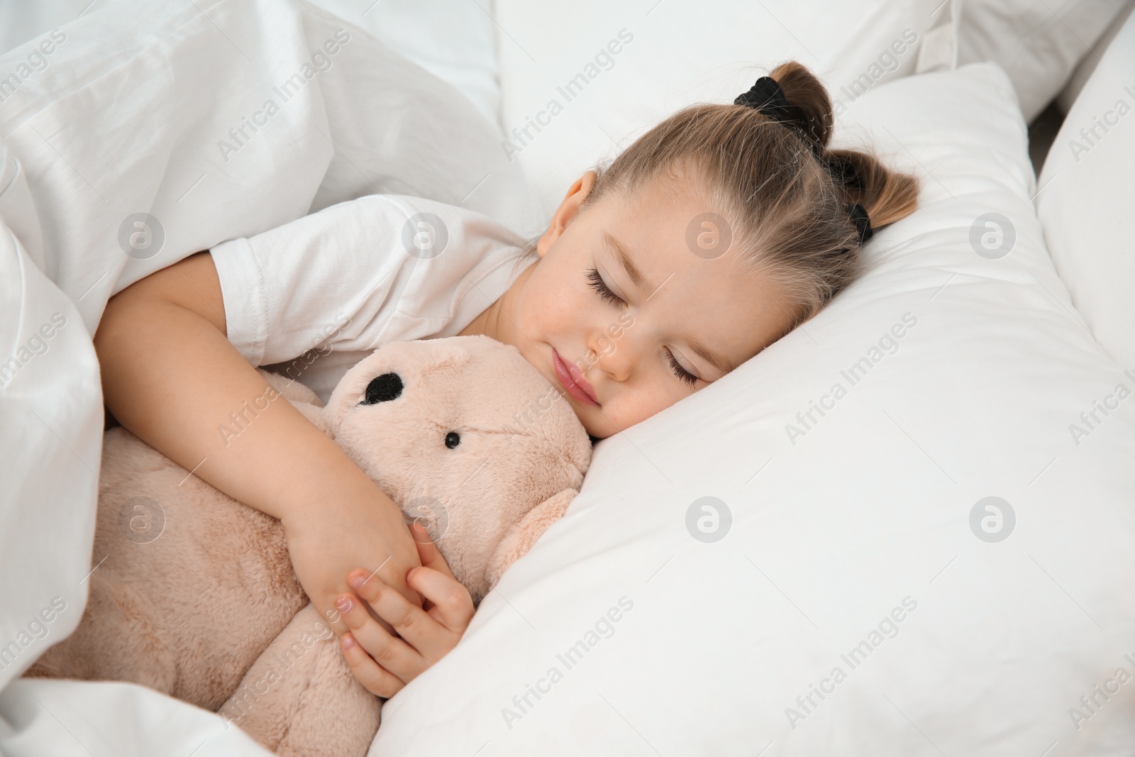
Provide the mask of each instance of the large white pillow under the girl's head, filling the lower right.
{"label": "large white pillow under the girl's head, filling the lower right", "polygon": [[1012,84],[902,78],[836,134],[918,173],[917,212],[814,320],[600,441],[372,755],[1128,754],[1135,415],[1069,424],[1135,378],[1045,252]]}

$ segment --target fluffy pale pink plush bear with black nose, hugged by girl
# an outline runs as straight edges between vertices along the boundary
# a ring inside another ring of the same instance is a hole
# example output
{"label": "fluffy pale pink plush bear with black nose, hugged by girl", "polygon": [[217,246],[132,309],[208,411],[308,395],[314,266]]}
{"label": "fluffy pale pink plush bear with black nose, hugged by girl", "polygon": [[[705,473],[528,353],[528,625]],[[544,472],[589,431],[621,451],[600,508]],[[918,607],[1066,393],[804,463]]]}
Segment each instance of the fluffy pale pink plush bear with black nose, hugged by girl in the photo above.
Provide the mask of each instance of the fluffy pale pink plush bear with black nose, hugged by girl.
{"label": "fluffy pale pink plush bear with black nose, hugged by girl", "polygon": [[[426,527],[474,602],[563,514],[590,463],[558,390],[487,336],[384,345],[326,407],[261,373],[263,398],[218,432],[239,444],[258,407],[292,402]],[[28,675],[141,683],[281,755],[365,755],[380,700],[309,604],[279,521],[120,427],[106,434],[101,480],[86,611]]]}

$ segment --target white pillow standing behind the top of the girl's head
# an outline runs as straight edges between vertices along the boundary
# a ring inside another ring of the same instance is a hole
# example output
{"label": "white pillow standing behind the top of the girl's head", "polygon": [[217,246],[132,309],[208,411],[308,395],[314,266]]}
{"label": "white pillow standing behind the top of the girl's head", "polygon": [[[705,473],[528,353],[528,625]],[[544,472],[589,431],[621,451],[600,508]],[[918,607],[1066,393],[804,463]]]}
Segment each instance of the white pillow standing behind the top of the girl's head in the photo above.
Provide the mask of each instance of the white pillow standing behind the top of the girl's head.
{"label": "white pillow standing behind the top of the girl's head", "polygon": [[695,101],[732,102],[784,60],[824,78],[842,108],[916,68],[951,67],[957,8],[957,0],[772,10],[745,0],[496,0],[501,149],[532,187],[513,227],[543,233],[568,187],[600,159]]}

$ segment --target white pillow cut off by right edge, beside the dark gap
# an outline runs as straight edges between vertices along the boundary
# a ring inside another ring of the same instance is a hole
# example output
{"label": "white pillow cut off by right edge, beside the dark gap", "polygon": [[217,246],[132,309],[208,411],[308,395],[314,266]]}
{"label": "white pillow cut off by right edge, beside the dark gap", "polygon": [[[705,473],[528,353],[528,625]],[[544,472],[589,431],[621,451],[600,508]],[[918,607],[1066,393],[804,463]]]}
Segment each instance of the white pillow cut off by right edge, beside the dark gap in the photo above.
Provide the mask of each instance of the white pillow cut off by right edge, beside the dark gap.
{"label": "white pillow cut off by right edge, beside the dark gap", "polygon": [[1135,370],[1135,14],[1065,118],[1044,161],[1036,213],[1092,333]]}

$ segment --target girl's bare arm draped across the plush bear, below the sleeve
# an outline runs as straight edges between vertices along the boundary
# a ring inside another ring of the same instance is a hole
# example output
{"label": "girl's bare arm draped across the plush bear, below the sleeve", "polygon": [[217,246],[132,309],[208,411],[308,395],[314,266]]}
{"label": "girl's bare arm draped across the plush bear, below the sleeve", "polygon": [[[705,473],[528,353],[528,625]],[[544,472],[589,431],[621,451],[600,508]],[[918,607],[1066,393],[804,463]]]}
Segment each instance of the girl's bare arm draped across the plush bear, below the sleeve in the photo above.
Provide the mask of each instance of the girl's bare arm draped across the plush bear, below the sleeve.
{"label": "girl's bare arm draped across the plush bear, below the sleeve", "polygon": [[[209,253],[143,278],[107,303],[94,335],[107,406],[127,430],[230,497],[278,518],[304,590],[335,629],[347,572],[404,580],[420,564],[402,513],[322,431],[286,401],[268,403],[236,437],[229,413],[263,395],[257,370],[226,338]],[[263,404],[262,401],[260,404]],[[247,414],[245,415],[247,417]]]}

